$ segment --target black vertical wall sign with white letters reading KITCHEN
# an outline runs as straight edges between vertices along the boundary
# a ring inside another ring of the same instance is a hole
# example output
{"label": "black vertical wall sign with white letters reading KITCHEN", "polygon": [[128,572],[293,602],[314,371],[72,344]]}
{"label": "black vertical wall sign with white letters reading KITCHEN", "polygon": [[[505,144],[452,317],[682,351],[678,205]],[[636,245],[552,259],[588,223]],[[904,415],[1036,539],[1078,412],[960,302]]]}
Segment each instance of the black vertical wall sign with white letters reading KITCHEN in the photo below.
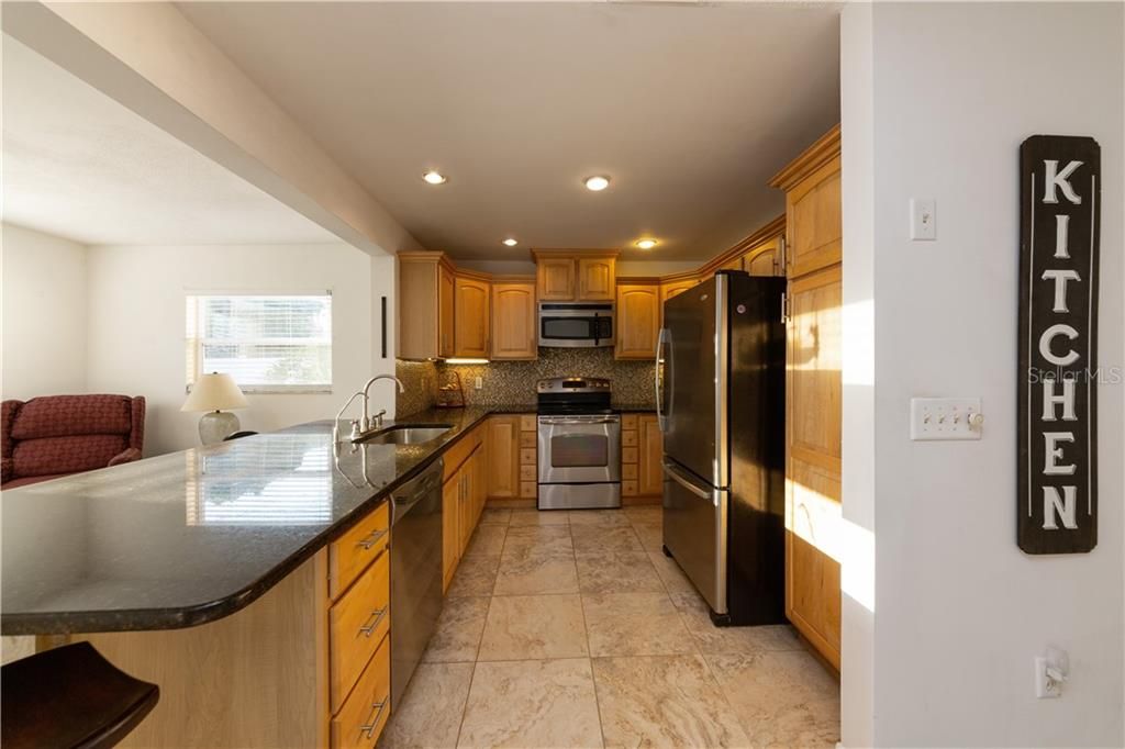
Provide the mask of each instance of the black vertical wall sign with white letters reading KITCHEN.
{"label": "black vertical wall sign with white letters reading KITCHEN", "polygon": [[1035,135],[1019,150],[1019,496],[1029,554],[1098,542],[1097,315],[1101,148]]}

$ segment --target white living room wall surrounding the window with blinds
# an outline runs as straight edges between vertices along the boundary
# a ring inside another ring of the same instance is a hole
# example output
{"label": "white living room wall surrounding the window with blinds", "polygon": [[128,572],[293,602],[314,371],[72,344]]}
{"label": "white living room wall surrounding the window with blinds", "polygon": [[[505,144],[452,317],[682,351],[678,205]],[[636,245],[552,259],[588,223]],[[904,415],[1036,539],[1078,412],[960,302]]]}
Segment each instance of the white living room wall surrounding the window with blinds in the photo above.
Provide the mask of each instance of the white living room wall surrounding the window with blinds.
{"label": "white living room wall surrounding the window with blinds", "polygon": [[[195,247],[98,246],[89,250],[88,387],[148,400],[145,454],[198,444],[199,414],[180,413],[184,395],[184,296],[189,291],[302,292],[332,290],[331,394],[248,395],[237,412],[259,432],[331,418],[372,369],[394,372],[372,351],[381,291],[390,294],[394,259],[344,244]],[[379,273],[377,267],[382,268]],[[393,297],[388,307],[394,309]],[[388,325],[393,330],[393,323]],[[390,351],[394,351],[392,345]],[[394,409],[390,388],[372,408]]]}

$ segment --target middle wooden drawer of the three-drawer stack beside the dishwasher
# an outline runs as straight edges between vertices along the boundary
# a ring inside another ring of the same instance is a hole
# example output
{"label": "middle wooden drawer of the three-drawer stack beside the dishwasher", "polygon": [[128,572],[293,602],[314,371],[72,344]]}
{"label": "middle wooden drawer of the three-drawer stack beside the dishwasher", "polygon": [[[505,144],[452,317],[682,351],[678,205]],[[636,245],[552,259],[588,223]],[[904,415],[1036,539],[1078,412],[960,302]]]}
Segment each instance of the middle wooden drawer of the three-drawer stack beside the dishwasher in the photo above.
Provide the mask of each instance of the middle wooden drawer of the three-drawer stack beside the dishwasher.
{"label": "middle wooden drawer of the three-drawer stack beside the dishwasher", "polygon": [[390,554],[382,554],[328,610],[328,702],[340,710],[390,629]]}

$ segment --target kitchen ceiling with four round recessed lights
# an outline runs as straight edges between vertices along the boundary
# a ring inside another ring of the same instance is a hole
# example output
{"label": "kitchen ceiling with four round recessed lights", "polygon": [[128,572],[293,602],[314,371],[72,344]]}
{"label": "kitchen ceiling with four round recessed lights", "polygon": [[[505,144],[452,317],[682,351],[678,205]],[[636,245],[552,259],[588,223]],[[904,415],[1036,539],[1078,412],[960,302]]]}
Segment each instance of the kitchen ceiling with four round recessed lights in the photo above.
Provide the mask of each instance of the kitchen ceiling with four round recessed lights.
{"label": "kitchen ceiling with four round recessed lights", "polygon": [[[180,10],[424,246],[724,249],[839,118],[838,3],[191,2]],[[450,181],[421,180],[436,168]],[[610,174],[602,193],[584,177]],[[520,246],[500,241],[513,235]]]}

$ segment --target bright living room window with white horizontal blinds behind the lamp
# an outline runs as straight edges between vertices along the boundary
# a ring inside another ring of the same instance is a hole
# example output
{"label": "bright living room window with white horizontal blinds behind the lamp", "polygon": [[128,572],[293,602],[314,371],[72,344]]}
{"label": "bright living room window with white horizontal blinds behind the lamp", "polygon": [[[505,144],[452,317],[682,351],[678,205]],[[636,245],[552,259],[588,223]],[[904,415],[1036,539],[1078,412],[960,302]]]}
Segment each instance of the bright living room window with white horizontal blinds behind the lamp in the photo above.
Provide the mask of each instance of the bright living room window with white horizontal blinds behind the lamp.
{"label": "bright living room window with white horizontal blinds behind the lamp", "polygon": [[332,389],[332,295],[187,298],[188,389],[226,372],[248,392]]}

